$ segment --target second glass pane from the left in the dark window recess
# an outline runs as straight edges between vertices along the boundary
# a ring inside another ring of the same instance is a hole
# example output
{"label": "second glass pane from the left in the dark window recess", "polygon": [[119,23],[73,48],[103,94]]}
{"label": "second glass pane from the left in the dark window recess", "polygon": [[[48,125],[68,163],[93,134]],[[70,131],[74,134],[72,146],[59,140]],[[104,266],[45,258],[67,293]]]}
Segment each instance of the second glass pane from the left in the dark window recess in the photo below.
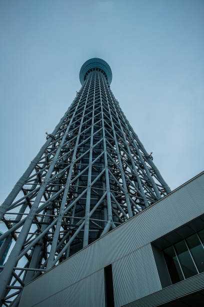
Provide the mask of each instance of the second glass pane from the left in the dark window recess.
{"label": "second glass pane from the left in the dark window recess", "polygon": [[197,274],[197,270],[194,266],[190,253],[184,240],[176,243],[175,251],[180,262],[181,268],[183,270],[185,278],[191,277]]}

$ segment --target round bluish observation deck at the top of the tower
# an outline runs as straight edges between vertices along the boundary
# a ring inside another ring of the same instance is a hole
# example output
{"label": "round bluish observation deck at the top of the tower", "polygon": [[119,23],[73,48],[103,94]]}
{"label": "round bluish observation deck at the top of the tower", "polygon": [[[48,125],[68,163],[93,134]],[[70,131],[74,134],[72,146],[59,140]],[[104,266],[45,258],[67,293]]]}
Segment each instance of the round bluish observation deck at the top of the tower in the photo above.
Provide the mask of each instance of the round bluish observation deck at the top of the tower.
{"label": "round bluish observation deck at the top of the tower", "polygon": [[102,73],[106,77],[108,84],[110,85],[110,83],[112,81],[111,69],[110,69],[109,65],[104,60],[98,59],[98,58],[89,59],[81,66],[81,69],[80,69],[80,72],[79,72],[79,80],[80,80],[81,85],[83,84],[87,74],[90,71],[92,71],[93,69],[97,69],[99,71],[102,71]]}

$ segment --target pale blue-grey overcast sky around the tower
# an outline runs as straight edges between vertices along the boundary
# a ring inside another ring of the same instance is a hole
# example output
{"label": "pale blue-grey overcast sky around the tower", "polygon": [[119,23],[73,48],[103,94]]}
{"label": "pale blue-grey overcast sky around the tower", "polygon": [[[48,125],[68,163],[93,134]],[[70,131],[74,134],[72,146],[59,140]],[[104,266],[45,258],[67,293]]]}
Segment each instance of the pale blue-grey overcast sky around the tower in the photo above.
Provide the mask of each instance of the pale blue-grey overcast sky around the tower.
{"label": "pale blue-grey overcast sky around the tower", "polygon": [[203,16],[202,0],[0,0],[0,201],[92,57],[170,188],[203,171]]}

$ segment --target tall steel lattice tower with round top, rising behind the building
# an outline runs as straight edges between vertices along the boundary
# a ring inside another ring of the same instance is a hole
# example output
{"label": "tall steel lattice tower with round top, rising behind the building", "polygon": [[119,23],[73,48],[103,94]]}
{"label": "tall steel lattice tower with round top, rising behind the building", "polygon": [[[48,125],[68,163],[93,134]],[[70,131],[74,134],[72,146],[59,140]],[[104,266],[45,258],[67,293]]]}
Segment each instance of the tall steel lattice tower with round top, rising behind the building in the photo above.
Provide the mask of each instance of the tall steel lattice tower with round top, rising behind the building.
{"label": "tall steel lattice tower with round top, rising behind the building", "polygon": [[110,90],[109,65],[90,59],[79,79],[75,99],[0,207],[0,257],[15,241],[0,267],[5,306],[18,305],[25,283],[170,192]]}

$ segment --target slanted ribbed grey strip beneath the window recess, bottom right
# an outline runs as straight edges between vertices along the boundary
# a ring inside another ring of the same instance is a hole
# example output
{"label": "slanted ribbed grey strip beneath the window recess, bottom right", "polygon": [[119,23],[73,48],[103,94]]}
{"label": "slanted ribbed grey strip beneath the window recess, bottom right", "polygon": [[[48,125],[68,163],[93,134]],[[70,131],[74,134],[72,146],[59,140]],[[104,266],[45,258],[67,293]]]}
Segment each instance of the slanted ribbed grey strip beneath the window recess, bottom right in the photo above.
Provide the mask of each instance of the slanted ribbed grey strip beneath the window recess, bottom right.
{"label": "slanted ribbed grey strip beneath the window recess, bottom right", "polygon": [[[204,289],[204,273],[195,275],[171,286],[168,286],[156,293],[143,297],[131,303],[125,304],[125,307],[155,307],[182,296],[189,295]],[[123,306],[123,307],[124,307]]]}

